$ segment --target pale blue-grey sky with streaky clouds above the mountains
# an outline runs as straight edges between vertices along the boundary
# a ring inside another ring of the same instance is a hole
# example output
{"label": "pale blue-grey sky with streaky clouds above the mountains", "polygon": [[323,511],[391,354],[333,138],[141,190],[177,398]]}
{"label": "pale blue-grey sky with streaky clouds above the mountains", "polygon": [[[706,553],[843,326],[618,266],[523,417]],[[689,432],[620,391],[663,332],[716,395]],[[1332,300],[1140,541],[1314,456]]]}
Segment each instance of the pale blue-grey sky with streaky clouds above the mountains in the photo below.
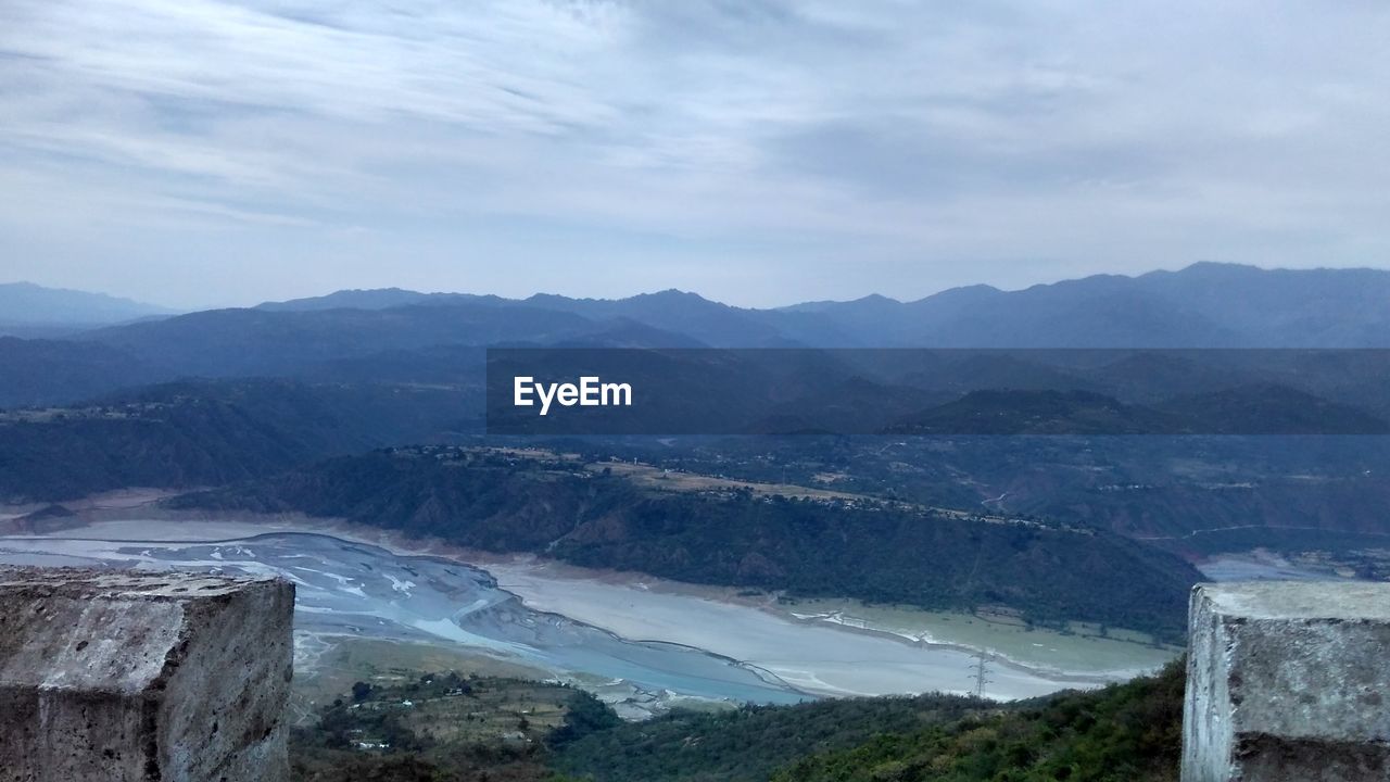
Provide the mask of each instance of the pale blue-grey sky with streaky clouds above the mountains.
{"label": "pale blue-grey sky with streaky clouds above the mountains", "polygon": [[1384,0],[0,0],[0,281],[735,305],[1390,266]]}

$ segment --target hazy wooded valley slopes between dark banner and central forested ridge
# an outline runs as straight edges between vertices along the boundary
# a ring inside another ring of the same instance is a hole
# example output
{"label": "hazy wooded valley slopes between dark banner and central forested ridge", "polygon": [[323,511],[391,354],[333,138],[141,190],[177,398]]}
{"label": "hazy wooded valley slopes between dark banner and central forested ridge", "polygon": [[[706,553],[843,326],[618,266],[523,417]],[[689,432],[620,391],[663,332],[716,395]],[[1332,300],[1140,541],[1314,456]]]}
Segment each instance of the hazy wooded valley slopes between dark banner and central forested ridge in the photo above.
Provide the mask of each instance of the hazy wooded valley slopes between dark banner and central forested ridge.
{"label": "hazy wooded valley slopes between dark banner and central forested ridge", "polygon": [[1104,529],[1184,555],[1383,547],[1390,502],[1390,437],[763,437],[585,454]]}

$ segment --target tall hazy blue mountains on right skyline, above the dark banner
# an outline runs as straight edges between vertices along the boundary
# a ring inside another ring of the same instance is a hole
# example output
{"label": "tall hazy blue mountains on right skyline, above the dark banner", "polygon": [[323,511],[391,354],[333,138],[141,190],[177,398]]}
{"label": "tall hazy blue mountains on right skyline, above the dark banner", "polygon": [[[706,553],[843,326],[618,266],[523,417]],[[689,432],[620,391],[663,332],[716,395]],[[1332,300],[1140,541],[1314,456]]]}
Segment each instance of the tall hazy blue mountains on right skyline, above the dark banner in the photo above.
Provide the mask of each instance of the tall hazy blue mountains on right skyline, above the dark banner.
{"label": "tall hazy blue mountains on right skyline, above the dark banner", "polygon": [[973,285],[906,303],[869,296],[777,312],[813,313],[888,346],[1352,348],[1390,346],[1387,305],[1390,271],[1197,263],[1023,291]]}

